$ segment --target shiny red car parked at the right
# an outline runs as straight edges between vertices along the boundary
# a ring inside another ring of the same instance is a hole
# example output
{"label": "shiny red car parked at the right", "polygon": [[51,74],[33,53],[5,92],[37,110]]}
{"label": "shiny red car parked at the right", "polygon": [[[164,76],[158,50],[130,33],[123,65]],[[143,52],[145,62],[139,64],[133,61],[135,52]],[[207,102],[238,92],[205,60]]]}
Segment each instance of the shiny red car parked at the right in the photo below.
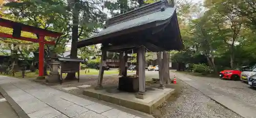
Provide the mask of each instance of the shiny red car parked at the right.
{"label": "shiny red car parked at the right", "polygon": [[249,68],[250,66],[242,66],[234,70],[223,70],[220,72],[221,79],[230,79],[230,80],[240,80],[240,76],[243,70]]}

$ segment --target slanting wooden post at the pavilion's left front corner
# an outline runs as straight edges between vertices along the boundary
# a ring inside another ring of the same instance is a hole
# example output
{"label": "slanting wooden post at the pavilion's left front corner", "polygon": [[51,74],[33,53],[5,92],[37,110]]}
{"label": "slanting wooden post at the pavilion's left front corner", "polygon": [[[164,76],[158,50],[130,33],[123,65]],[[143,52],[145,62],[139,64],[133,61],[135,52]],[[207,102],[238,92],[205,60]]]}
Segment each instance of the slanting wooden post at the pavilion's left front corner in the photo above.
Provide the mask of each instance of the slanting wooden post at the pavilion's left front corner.
{"label": "slanting wooden post at the pavilion's left front corner", "polygon": [[106,63],[106,50],[101,50],[101,59],[100,59],[100,65],[99,65],[99,76],[98,76],[98,85],[95,89],[101,89],[102,88],[102,80],[103,80],[103,74],[104,74],[104,68],[103,66]]}

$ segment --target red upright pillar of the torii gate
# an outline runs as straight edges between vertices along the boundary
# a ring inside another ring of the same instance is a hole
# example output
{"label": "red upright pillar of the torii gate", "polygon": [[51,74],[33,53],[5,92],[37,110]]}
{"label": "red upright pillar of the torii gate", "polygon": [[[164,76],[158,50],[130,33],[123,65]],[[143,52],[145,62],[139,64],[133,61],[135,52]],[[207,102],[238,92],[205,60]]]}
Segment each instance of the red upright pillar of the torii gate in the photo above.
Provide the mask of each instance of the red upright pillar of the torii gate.
{"label": "red upright pillar of the torii gate", "polygon": [[44,78],[44,58],[45,58],[45,45],[44,45],[44,41],[45,41],[45,36],[39,36],[39,78]]}

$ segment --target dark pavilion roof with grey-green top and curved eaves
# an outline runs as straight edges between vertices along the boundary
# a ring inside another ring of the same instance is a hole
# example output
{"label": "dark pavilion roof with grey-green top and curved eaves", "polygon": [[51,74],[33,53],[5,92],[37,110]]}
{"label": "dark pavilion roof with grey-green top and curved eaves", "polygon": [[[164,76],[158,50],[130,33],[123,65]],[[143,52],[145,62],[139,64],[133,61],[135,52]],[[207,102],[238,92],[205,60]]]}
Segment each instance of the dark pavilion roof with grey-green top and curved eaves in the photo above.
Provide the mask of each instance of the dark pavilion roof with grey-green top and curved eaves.
{"label": "dark pavilion roof with grey-green top and curved eaves", "polygon": [[183,48],[176,9],[168,6],[164,0],[107,19],[105,29],[92,37],[78,41],[77,47],[98,43],[133,43],[135,46],[145,45],[154,51]]}

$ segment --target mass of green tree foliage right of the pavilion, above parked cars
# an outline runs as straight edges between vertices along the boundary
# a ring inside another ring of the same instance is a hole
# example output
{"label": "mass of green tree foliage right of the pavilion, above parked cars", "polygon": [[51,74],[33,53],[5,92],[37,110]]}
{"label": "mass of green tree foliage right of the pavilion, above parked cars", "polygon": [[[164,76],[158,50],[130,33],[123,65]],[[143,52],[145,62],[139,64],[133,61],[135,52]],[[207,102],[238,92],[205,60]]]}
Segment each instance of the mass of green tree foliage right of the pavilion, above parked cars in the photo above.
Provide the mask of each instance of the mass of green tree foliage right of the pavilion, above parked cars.
{"label": "mass of green tree foliage right of the pavilion, above parked cars", "polygon": [[255,1],[179,4],[178,20],[185,49],[174,54],[173,61],[197,63],[190,60],[203,55],[207,59],[204,63],[216,72],[219,68],[255,63]]}

